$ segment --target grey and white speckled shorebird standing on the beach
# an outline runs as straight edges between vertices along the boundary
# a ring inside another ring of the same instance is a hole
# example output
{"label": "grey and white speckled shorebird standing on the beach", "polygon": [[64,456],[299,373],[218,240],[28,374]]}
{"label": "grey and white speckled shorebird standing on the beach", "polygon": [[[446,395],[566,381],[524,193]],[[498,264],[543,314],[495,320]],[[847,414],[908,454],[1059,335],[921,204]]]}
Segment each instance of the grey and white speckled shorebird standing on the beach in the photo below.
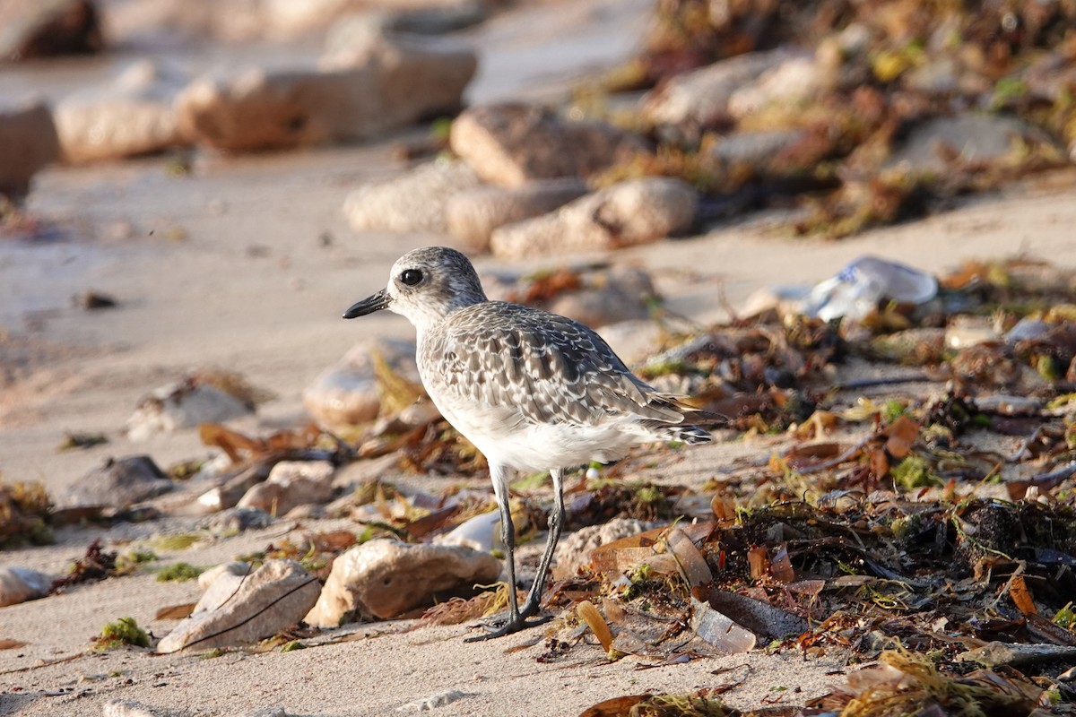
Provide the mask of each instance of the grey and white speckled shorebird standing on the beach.
{"label": "grey and white speckled shorebird standing on the beach", "polygon": [[[355,318],[387,309],[419,334],[419,375],[434,404],[482,451],[500,510],[510,589],[507,620],[470,640],[515,632],[539,611],[546,572],[564,525],[564,470],[618,460],[639,443],[706,443],[691,420],[707,416],[632,374],[579,321],[490,301],[471,262],[430,246],[393,264],[388,286],[344,312]],[[514,529],[508,506],[512,470],[549,470],[554,507],[538,575],[522,610],[515,599]],[[546,618],[549,619],[549,618]]]}

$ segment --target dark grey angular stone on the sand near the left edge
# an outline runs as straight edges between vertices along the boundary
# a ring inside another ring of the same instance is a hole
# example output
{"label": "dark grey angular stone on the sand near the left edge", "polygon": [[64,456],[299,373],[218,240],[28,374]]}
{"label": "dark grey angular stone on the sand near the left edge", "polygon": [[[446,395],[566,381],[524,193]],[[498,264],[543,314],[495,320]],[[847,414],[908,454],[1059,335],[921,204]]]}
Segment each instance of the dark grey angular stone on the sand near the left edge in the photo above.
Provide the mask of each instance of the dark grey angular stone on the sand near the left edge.
{"label": "dark grey angular stone on the sand near the left edge", "polygon": [[125,508],[171,489],[171,479],[148,456],[110,458],[75,481],[57,498],[56,507]]}

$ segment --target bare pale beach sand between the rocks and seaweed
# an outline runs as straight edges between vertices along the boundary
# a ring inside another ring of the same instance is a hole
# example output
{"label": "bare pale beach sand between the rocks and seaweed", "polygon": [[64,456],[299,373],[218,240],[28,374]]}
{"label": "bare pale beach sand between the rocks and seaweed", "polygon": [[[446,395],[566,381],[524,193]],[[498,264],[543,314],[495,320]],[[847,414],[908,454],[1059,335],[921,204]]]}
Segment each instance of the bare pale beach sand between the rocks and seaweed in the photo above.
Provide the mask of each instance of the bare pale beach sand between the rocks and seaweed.
{"label": "bare pale beach sand between the rocks and seaweed", "polygon": [[[624,56],[631,43],[601,32],[610,6],[590,3],[589,12],[565,20],[570,37],[562,26],[536,23],[533,10],[498,18],[485,32],[490,52],[505,62],[487,67],[502,67],[505,74],[484,70],[473,99],[563,95],[571,72]],[[640,6],[645,3],[628,3],[617,21],[636,27]],[[521,37],[532,44],[521,44]],[[594,38],[606,44],[587,42]],[[564,43],[576,51],[564,51],[570,62],[536,67],[542,52],[563,49]],[[407,322],[392,315],[340,319],[353,301],[384,285],[401,253],[445,241],[356,235],[346,228],[340,211],[346,192],[400,169],[385,142],[229,159],[200,156],[187,177],[169,176],[159,158],[45,171],[29,209],[53,227],[49,238],[0,240],[3,477],[42,481],[59,492],[109,456],[145,453],[167,465],[208,455],[194,431],[140,444],[123,433],[139,398],[192,369],[237,371],[277,395],[255,417],[238,421],[241,430],[265,433],[305,422],[302,389],[354,343],[411,335]],[[968,258],[1015,254],[1071,267],[1076,264],[1074,178],[1072,172],[1057,172],[928,219],[840,242],[793,240],[756,217],[598,258],[653,272],[668,306],[698,321],[724,317],[726,306],[741,306],[760,287],[826,278],[862,254],[936,272]],[[477,263],[497,267],[489,258]],[[107,292],[119,306],[93,313],[74,307],[71,297],[87,290]],[[57,453],[69,431],[103,432],[110,442]],[[707,446],[675,465],[651,469],[651,477],[699,485],[734,457],[765,458],[770,450],[763,440]],[[133,546],[162,526],[182,525],[62,529],[57,545],[0,553],[0,565],[58,573],[95,537]],[[264,548],[293,528],[301,533],[317,527],[282,521],[161,558],[214,564]],[[156,620],[156,611],[197,596],[193,583],[162,584],[139,574],[0,608],[0,637],[27,643],[0,650],[0,715],[99,715],[110,700],[138,701],[159,715],[230,715],[270,706],[288,715],[388,715],[451,690],[464,696],[438,707],[439,714],[576,715],[620,694],[714,687],[741,675],[744,684],[725,696],[734,705],[754,706],[763,699],[803,704],[827,691],[846,669],[837,654],[805,659],[785,651],[640,670],[634,659],[609,662],[596,646],[538,663],[540,643],[509,650],[532,641],[533,633],[465,644],[466,626],[409,631],[409,622],[348,626],[312,641],[326,644],[286,654],[202,659],[83,653],[105,621],[124,615],[160,636],[174,622]],[[356,639],[334,643],[349,634]],[[714,674],[737,665],[751,669]]]}

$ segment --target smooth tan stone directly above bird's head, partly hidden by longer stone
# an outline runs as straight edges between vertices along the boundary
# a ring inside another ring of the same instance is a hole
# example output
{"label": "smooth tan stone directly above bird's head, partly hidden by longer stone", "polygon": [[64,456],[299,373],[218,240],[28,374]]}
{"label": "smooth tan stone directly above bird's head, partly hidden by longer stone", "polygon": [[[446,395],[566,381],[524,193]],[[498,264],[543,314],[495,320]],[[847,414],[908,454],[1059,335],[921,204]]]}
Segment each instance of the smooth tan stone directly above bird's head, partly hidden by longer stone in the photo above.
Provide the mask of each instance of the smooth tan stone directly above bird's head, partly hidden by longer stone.
{"label": "smooth tan stone directly above bird's head, partly hidden by longer stone", "polygon": [[514,188],[477,187],[449,198],[445,223],[464,248],[480,254],[490,250],[497,227],[552,212],[585,193],[586,184],[576,177],[537,180]]}

